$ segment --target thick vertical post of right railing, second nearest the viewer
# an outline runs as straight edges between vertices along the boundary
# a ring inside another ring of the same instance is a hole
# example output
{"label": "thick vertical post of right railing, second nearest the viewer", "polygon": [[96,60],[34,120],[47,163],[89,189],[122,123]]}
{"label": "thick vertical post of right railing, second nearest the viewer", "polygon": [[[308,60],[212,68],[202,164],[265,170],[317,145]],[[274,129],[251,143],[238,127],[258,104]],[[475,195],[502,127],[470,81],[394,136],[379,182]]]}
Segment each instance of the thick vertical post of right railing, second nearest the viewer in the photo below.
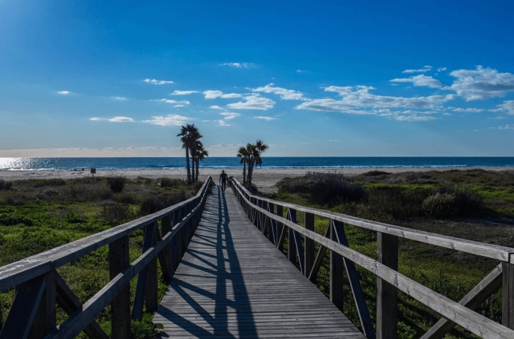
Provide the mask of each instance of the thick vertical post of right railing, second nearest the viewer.
{"label": "thick vertical post of right railing, second nearest the viewer", "polygon": [[[398,271],[398,237],[377,232],[377,260]],[[377,278],[377,339],[395,339],[398,331],[398,289]]]}

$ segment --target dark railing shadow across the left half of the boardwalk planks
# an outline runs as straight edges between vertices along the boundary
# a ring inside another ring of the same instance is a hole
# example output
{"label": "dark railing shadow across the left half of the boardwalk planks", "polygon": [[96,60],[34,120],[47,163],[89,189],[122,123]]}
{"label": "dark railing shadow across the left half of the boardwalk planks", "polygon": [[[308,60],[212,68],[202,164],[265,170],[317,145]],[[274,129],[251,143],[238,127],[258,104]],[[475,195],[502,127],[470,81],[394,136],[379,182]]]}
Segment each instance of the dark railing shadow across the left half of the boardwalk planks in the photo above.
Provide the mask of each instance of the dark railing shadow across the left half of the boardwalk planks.
{"label": "dark railing shadow across the left half of the boardwalk planks", "polygon": [[[211,248],[211,250],[200,252],[189,249],[180,263],[180,265],[194,268],[196,272],[200,272],[196,277],[196,283],[194,285],[188,283],[187,280],[190,276],[184,277],[177,272],[170,285],[175,292],[171,303],[185,302],[185,306],[180,307],[180,314],[161,306],[163,309],[160,310],[160,313],[167,321],[179,326],[185,332],[194,333],[194,337],[211,338],[214,336],[227,339],[235,338],[229,332],[228,326],[230,322],[234,321],[230,314],[235,313],[237,337],[255,339],[258,336],[255,331],[248,293],[228,227],[230,214],[227,201],[219,186],[216,187],[216,191],[217,199],[207,201],[203,219],[192,240],[192,243],[204,249]],[[217,202],[217,206],[209,205],[215,202]],[[192,263],[192,261],[199,262],[201,265]],[[215,284],[214,293],[210,291],[213,290],[213,284]],[[204,286],[209,289],[203,288]],[[208,302],[205,302],[206,299]],[[201,300],[204,302],[202,303]],[[213,310],[209,309],[212,304],[214,305]],[[199,315],[201,319],[188,319],[188,315],[190,315],[186,310],[188,308]],[[230,313],[229,309],[231,309]],[[199,324],[204,325],[200,326]],[[210,330],[206,330],[206,327]],[[166,333],[161,335],[168,337]]]}

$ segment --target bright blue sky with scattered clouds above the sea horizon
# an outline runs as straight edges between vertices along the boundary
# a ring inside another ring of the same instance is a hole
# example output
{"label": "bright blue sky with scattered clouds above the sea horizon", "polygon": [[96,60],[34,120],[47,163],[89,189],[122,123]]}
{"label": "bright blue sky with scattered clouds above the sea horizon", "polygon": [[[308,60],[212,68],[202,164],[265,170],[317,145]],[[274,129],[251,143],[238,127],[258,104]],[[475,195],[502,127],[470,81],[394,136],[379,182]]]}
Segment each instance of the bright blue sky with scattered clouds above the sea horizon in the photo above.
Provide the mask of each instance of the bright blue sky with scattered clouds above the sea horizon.
{"label": "bright blue sky with scattered clouds above the sea horizon", "polygon": [[514,156],[512,1],[0,0],[0,157]]}

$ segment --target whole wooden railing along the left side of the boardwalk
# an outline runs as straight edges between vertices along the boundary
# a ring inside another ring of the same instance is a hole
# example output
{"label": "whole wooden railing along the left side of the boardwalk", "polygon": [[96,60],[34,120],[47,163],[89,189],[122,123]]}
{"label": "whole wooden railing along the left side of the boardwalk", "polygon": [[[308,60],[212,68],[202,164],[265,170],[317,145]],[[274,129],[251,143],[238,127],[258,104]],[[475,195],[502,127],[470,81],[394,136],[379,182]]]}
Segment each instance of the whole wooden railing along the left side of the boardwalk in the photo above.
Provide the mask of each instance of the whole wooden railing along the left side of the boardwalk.
{"label": "whole wooden railing along the left side of the boardwalk", "polygon": [[[0,339],[74,338],[81,331],[106,339],[95,317],[108,305],[112,337],[130,338],[131,319],[142,318],[143,304],[150,313],[158,307],[157,261],[164,280],[170,281],[200,221],[211,181],[195,197],[167,209],[1,267],[0,292],[16,287],[16,296]],[[131,263],[128,235],[140,229],[142,254]],[[111,280],[82,304],[56,269],[106,245]],[[136,276],[131,305],[130,281]],[[59,326],[56,305],[69,315]]]}

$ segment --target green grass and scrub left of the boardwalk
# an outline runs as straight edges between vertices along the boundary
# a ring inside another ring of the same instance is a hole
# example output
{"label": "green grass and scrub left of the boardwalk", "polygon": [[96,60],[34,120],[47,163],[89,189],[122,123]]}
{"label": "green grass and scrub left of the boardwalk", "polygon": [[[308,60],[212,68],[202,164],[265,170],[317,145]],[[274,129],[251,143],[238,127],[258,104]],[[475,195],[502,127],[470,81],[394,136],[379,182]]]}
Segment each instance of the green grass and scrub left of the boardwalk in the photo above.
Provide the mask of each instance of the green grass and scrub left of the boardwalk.
{"label": "green grass and scrub left of the boardwalk", "polygon": [[[157,212],[196,195],[201,186],[166,178],[160,182],[157,185],[156,180],[145,178],[0,180],[0,266]],[[142,230],[131,234],[131,262],[141,254],[142,240]],[[58,269],[82,303],[108,282],[107,253],[104,246]],[[136,280],[131,282],[132,292]],[[159,297],[166,288],[159,284]],[[0,327],[13,298],[14,289],[0,293]],[[66,317],[58,309],[58,323]],[[96,321],[107,334],[111,332],[108,308]],[[156,325],[149,316],[132,324],[133,338],[153,338],[155,334]]]}

